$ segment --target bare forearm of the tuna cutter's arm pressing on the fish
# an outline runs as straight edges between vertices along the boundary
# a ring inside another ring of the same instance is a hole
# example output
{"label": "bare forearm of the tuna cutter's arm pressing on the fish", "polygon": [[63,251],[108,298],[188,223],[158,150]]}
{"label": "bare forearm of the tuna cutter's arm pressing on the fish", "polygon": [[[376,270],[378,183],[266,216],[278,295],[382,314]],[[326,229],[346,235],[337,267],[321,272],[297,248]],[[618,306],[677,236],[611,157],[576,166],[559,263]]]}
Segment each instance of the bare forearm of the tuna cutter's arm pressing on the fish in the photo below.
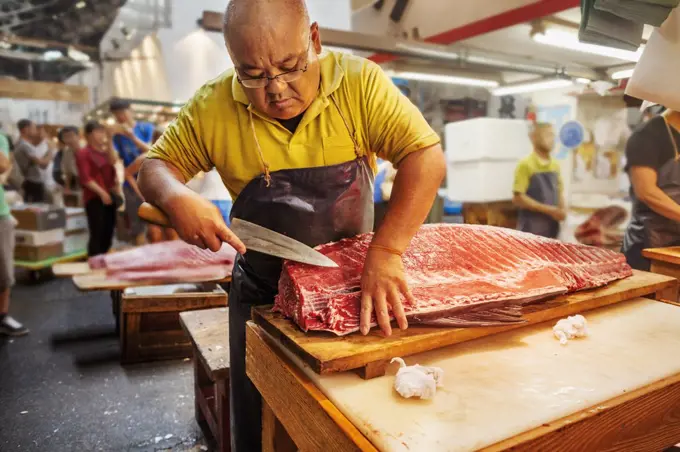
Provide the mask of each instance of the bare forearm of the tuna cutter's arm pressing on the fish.
{"label": "bare forearm of the tuna cutter's arm pressing on the fish", "polygon": [[373,243],[405,251],[427,218],[445,174],[440,145],[407,156],[397,171],[389,208]]}

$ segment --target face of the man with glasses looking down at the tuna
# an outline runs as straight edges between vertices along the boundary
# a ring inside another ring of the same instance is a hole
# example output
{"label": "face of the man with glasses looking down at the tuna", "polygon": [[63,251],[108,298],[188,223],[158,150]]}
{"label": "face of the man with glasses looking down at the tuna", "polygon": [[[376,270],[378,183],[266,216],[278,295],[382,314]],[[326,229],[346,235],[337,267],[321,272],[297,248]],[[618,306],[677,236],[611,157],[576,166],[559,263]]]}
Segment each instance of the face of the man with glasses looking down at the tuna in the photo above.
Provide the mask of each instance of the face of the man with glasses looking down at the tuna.
{"label": "face of the man with glasses looking down at the tuna", "polygon": [[276,79],[270,80],[264,88],[243,87],[256,110],[270,118],[290,119],[309,107],[319,89],[319,29],[315,23],[309,33],[293,35],[294,39],[277,39],[276,35],[266,33],[250,39],[239,36],[229,50],[241,80],[275,77],[307,68],[292,82]]}

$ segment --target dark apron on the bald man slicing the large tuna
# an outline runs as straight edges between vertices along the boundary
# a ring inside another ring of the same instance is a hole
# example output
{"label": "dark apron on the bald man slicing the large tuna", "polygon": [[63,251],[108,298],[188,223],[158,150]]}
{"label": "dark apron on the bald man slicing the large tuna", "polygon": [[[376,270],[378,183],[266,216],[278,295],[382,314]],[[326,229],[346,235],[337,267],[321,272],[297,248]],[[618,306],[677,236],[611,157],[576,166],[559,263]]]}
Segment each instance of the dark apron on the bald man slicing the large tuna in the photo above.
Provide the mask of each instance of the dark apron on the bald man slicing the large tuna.
{"label": "dark apron on the bald man slicing the large tuna", "polygon": [[[338,111],[335,99],[331,97]],[[342,116],[342,111],[340,111]],[[250,115],[253,124],[252,113]],[[351,237],[373,228],[373,172],[361,156],[339,165],[269,172],[257,141],[264,174],[239,193],[230,217],[285,234],[309,246]],[[253,306],[272,304],[281,275],[281,259],[247,251],[237,256],[229,290],[230,407],[232,450],[261,450],[260,394],[246,377],[245,324]]]}

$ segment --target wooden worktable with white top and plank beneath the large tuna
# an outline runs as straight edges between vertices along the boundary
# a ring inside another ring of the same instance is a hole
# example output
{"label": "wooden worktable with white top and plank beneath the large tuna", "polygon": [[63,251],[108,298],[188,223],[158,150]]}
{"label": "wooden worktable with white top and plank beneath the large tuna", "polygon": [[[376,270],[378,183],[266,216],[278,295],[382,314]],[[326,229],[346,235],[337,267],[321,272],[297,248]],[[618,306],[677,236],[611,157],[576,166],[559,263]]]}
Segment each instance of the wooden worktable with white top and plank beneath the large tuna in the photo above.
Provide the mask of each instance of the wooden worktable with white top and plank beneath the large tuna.
{"label": "wooden worktable with white top and plank beneath the large tuna", "polygon": [[[677,281],[636,272],[566,296],[550,309],[581,312],[591,328],[590,337],[566,346],[553,337],[555,320],[545,312],[538,323],[484,337],[469,332],[476,329],[435,328],[389,339],[312,334],[303,341],[265,328],[262,318],[249,322],[246,371],[263,397],[264,450],[291,450],[291,441],[300,450],[337,451],[672,446],[680,442],[680,307],[643,294],[672,299]],[[423,338],[438,343],[427,347]],[[413,341],[415,353],[406,347]],[[352,350],[358,361],[349,358]],[[442,367],[444,387],[431,401],[406,400],[392,389],[396,364],[370,380],[343,371],[387,355]]]}

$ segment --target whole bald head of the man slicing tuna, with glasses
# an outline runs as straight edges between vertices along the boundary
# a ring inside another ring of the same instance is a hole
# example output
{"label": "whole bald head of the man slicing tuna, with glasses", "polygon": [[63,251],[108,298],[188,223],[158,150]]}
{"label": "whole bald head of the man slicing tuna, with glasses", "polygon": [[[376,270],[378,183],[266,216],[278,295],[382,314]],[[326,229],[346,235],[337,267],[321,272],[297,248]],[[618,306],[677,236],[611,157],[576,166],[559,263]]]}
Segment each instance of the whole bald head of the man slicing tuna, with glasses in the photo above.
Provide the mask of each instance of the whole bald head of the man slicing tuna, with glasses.
{"label": "whole bald head of the man slicing tuna, with glasses", "polygon": [[231,0],[224,37],[237,80],[258,111],[290,119],[311,105],[321,80],[321,38],[304,0]]}

